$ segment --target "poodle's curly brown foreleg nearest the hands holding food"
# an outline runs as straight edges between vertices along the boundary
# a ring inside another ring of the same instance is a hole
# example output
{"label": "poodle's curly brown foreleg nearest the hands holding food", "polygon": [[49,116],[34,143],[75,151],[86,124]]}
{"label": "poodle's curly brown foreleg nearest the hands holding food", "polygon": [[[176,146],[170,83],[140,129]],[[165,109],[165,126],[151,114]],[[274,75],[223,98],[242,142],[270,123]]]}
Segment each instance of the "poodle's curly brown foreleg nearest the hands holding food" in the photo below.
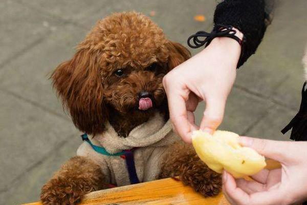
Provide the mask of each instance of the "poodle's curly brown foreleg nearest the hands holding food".
{"label": "poodle's curly brown foreleg nearest the hands holding food", "polygon": [[160,178],[175,176],[206,197],[217,195],[222,188],[221,174],[209,169],[191,145],[178,143],[167,150]]}

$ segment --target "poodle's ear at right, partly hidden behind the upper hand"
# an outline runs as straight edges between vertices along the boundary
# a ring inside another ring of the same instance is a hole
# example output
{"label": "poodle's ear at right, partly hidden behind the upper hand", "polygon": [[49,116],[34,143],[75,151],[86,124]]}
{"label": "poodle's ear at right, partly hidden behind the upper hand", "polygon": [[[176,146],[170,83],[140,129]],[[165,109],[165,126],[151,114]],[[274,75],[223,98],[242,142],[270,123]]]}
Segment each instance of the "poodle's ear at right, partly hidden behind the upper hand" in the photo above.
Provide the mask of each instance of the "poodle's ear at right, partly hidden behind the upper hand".
{"label": "poodle's ear at right, partly hidden behind the upper hand", "polygon": [[168,63],[167,63],[169,70],[182,64],[184,61],[186,61],[187,59],[191,57],[190,51],[187,48],[185,48],[183,45],[177,42],[169,41],[166,44],[166,46],[169,51],[169,57],[168,57]]}

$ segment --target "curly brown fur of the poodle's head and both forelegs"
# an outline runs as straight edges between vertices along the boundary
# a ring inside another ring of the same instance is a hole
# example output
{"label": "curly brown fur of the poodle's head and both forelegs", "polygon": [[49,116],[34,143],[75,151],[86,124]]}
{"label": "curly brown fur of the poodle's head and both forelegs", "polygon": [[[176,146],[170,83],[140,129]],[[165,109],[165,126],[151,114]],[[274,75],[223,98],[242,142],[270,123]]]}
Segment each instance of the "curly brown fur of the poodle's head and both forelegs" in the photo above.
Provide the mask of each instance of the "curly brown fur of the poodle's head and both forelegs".
{"label": "curly brown fur of the poodle's head and both forelegs", "polygon": [[[190,52],[168,40],[150,18],[136,12],[116,13],[100,20],[51,78],[80,131],[102,134],[109,121],[125,137],[157,111],[168,119],[163,76],[189,57]],[[145,111],[138,108],[142,91],[150,94],[153,104]],[[220,175],[187,145],[174,145],[164,162],[161,177],[176,175],[204,196],[221,190]],[[91,159],[74,157],[43,186],[41,200],[75,204],[85,193],[103,189],[103,179]]]}

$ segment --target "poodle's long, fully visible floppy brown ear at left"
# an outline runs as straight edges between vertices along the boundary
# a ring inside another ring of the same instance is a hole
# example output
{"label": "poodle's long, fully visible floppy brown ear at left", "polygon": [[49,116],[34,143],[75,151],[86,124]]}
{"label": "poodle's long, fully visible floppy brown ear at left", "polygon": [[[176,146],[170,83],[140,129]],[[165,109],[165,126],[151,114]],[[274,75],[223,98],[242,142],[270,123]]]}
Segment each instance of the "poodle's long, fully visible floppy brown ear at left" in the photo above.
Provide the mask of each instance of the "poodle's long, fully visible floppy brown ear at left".
{"label": "poodle's long, fully visible floppy brown ear at left", "polygon": [[79,50],[71,60],[60,64],[51,78],[75,126],[87,134],[101,133],[108,113],[94,51]]}

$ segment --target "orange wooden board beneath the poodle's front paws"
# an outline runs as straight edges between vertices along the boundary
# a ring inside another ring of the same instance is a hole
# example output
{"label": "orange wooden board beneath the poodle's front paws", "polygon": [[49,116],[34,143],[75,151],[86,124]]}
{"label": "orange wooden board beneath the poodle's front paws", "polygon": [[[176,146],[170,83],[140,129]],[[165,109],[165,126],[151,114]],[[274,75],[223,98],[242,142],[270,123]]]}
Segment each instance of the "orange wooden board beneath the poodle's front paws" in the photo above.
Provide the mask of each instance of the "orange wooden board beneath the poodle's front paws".
{"label": "orange wooden board beneath the poodle's front paws", "polygon": [[[229,204],[224,195],[220,193],[215,197],[205,198],[196,193],[181,181],[167,178],[156,181],[139,183],[119,188],[92,192],[83,198],[80,205],[169,205],[169,204],[203,204],[226,205]],[[24,204],[26,205],[26,204]],[[41,205],[40,202],[27,203],[27,205]]]}

